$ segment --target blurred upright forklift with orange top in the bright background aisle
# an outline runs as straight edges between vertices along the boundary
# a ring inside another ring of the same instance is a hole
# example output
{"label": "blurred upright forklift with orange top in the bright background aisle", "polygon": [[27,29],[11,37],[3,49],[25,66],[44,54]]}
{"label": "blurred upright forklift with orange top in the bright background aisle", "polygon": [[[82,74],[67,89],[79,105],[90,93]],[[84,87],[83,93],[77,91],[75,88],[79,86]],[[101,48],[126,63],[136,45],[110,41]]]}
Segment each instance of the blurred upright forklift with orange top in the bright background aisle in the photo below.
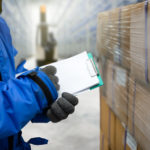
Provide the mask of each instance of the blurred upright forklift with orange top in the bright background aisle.
{"label": "blurred upright forklift with orange top in the bright background aisle", "polygon": [[[46,21],[46,6],[40,6],[40,24],[37,29],[37,64],[42,66],[57,61],[56,58],[56,39],[54,33],[49,32],[50,25]],[[41,55],[39,55],[39,53]]]}

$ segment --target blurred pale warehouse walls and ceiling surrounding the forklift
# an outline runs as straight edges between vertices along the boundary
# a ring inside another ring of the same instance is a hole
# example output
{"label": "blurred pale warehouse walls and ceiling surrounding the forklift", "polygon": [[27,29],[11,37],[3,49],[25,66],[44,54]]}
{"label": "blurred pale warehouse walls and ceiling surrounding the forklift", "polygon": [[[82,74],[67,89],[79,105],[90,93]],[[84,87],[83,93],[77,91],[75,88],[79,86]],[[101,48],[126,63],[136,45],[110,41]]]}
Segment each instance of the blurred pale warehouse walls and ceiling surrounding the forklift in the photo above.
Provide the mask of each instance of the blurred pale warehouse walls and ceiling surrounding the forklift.
{"label": "blurred pale warehouse walls and ceiling surrounding the forklift", "polygon": [[5,0],[3,17],[11,29],[19,59],[33,56],[36,52],[39,7],[43,3],[47,4],[47,20],[52,25],[50,30],[55,32],[60,57],[69,57],[84,50],[97,56],[97,14],[138,1],[141,0]]}

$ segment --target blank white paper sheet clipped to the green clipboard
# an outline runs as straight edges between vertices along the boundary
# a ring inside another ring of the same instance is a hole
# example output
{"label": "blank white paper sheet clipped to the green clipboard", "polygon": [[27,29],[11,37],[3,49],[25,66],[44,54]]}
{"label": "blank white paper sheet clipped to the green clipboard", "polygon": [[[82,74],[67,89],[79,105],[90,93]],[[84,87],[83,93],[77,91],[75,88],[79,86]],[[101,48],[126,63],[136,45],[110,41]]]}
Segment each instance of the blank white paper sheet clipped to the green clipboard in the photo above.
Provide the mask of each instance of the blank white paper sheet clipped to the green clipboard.
{"label": "blank white paper sheet clipped to the green clipboard", "polygon": [[77,95],[99,83],[96,73],[95,76],[93,75],[92,64],[89,65],[87,52],[50,65],[57,68],[56,76],[58,76],[60,84],[59,95],[63,92]]}

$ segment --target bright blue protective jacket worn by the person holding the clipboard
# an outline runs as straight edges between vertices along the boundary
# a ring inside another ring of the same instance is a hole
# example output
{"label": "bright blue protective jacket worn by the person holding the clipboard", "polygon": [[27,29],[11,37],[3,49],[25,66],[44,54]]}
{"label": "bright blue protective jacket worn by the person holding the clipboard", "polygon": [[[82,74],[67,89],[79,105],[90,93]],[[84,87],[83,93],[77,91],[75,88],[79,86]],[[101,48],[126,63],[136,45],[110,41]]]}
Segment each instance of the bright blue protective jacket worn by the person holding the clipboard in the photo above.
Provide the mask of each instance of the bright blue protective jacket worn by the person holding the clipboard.
{"label": "bright blue protective jacket worn by the person holding the clipboard", "polygon": [[[14,56],[17,54],[12,45],[10,30],[0,17],[0,150],[30,150],[21,136],[21,129],[29,122],[48,122],[44,114],[47,98],[41,87],[23,71],[21,65],[15,69]],[[56,100],[57,91],[47,75],[36,69],[37,75]]]}

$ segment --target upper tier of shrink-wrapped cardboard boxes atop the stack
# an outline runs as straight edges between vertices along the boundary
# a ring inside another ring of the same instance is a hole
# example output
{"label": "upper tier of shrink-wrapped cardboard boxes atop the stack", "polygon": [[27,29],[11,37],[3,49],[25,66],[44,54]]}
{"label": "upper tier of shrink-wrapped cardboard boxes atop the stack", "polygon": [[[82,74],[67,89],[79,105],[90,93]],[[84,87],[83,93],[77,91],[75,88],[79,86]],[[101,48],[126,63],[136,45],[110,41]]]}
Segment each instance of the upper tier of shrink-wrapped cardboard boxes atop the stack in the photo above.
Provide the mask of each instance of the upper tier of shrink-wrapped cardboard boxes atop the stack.
{"label": "upper tier of shrink-wrapped cardboard boxes atop the stack", "polygon": [[145,82],[146,75],[150,81],[150,2],[148,7],[147,31],[144,2],[100,13],[97,36],[100,56],[131,69],[132,76]]}

